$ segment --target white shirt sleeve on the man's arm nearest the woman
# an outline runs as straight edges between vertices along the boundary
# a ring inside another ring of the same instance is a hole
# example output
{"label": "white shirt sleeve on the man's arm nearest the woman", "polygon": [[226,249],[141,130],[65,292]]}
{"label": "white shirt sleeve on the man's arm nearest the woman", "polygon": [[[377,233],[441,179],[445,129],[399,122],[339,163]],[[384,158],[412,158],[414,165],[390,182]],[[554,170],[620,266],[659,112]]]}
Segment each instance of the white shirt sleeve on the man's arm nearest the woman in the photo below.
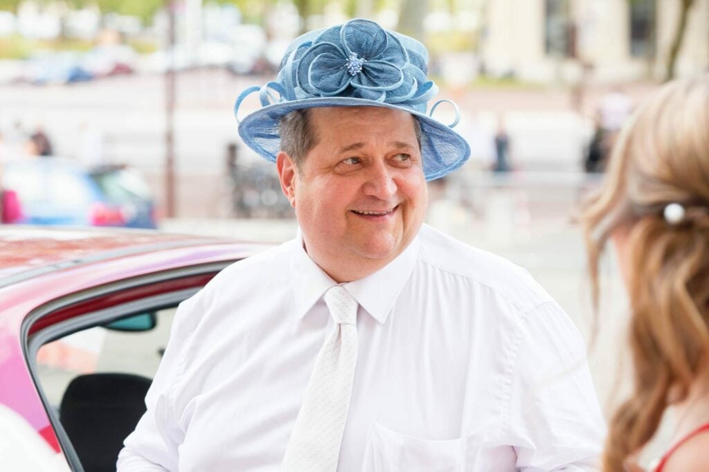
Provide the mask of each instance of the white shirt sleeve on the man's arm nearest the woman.
{"label": "white shirt sleeve on the man's arm nearest the woman", "polygon": [[554,301],[523,318],[508,428],[520,471],[597,471],[605,421],[579,330]]}

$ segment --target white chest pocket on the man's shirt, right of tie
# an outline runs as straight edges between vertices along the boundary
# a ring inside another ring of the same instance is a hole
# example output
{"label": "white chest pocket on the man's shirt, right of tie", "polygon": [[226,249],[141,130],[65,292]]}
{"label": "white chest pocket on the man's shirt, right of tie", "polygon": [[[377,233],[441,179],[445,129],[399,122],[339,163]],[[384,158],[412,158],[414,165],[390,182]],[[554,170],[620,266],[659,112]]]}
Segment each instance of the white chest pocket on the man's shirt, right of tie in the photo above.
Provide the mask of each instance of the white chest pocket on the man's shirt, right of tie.
{"label": "white chest pocket on the man's shirt, right of tie", "polygon": [[[367,434],[362,472],[466,472],[469,438],[429,441],[372,423]],[[473,446],[474,447],[474,446]]]}

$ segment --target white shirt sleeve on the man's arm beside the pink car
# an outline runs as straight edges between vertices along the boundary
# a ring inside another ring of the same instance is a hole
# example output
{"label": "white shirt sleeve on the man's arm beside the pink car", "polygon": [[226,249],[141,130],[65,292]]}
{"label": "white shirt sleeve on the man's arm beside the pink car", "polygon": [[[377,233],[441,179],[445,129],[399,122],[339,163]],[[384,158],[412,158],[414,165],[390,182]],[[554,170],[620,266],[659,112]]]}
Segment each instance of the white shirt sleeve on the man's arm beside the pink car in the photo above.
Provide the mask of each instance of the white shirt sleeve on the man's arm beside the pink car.
{"label": "white shirt sleeve on the man's arm beside the pink car", "polygon": [[194,296],[179,305],[170,339],[145,396],[147,410],[118,454],[118,472],[177,471],[178,448],[184,440],[175,397],[184,371],[191,333],[199,319]]}

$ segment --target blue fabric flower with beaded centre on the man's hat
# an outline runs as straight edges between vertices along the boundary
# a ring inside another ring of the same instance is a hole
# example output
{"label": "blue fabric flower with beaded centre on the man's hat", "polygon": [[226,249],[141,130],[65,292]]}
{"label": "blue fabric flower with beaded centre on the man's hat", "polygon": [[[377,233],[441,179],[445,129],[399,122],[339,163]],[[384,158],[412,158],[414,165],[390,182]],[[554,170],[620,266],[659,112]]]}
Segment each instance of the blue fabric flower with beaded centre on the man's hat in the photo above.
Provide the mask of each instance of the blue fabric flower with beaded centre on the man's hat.
{"label": "blue fabric flower with beaded centre on the man's hat", "polygon": [[435,93],[433,82],[426,80],[425,58],[411,58],[396,36],[373,21],[357,19],[329,28],[301,51],[294,75],[307,96],[413,106]]}

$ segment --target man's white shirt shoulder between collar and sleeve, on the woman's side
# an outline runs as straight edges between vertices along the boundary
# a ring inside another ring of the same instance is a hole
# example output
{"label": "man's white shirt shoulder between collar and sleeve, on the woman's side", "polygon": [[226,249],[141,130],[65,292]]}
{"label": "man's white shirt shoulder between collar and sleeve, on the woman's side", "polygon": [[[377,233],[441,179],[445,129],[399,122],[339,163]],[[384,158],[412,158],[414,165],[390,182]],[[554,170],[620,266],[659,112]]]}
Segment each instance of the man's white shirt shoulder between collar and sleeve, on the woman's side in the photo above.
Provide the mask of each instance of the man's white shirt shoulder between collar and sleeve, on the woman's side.
{"label": "man's white shirt shoulder between collar and sleeve, on the woman's side", "polygon": [[420,262],[493,291],[523,312],[552,301],[526,269],[504,257],[467,245],[428,225],[422,227],[420,240]]}

